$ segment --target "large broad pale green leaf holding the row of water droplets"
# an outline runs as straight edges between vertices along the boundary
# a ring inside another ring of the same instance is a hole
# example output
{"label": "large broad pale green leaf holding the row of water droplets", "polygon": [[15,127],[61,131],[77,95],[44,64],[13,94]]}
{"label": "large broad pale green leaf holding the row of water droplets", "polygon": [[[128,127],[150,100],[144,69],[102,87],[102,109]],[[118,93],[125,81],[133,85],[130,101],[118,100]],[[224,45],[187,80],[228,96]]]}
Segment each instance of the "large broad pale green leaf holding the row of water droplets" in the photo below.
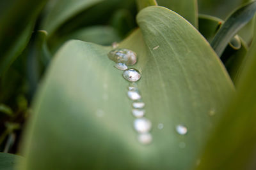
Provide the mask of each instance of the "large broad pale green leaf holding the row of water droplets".
{"label": "large broad pale green leaf holding the row of water droplets", "polygon": [[[142,75],[137,84],[153,142],[137,141],[129,82],[108,59],[111,48],[69,41],[56,53],[36,96],[24,169],[195,167],[234,86],[209,43],[177,13],[154,6],[137,19],[141,29],[120,47],[138,53],[134,68]],[[209,117],[212,110],[216,115]],[[178,124],[186,125],[188,134],[177,134]]]}

